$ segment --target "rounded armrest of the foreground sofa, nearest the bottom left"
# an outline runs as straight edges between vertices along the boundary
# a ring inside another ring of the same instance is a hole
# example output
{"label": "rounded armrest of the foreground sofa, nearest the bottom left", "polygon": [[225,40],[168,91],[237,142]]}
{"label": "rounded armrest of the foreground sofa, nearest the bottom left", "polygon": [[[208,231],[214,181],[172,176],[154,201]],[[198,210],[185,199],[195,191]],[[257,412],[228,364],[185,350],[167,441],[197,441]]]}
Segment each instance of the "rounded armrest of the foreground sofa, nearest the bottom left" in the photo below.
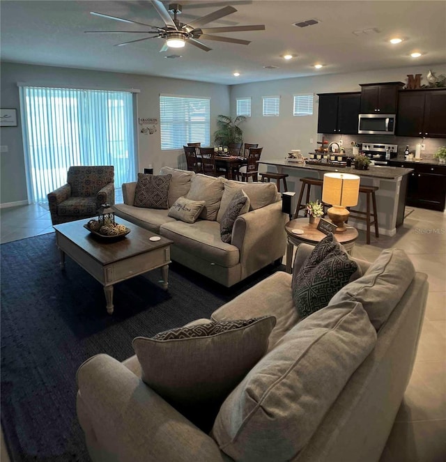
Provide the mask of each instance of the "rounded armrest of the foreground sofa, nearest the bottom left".
{"label": "rounded armrest of the foreground sofa, nearest the bottom left", "polygon": [[84,362],[77,385],[77,415],[98,460],[107,454],[133,462],[225,460],[210,436],[109,355]]}

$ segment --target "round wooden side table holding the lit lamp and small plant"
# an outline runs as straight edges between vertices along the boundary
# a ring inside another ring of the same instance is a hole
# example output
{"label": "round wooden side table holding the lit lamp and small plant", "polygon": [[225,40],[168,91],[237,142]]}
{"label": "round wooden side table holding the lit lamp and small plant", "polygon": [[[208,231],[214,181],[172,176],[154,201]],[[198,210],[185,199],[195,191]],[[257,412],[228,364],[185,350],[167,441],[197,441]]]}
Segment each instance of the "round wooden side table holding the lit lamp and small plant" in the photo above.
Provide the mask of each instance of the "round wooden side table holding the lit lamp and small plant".
{"label": "round wooden side table holding the lit lamp and small plant", "polygon": [[[286,231],[286,271],[291,272],[291,259],[293,258],[293,246],[304,242],[305,244],[316,245],[321,242],[327,235],[317,229],[319,219],[316,218],[314,223],[309,223],[309,218],[297,218],[285,224]],[[293,229],[301,229],[303,234],[293,233]],[[333,233],[334,238],[342,244],[348,254],[351,254],[357,240],[357,229],[353,226],[347,226],[347,231],[343,233]]]}

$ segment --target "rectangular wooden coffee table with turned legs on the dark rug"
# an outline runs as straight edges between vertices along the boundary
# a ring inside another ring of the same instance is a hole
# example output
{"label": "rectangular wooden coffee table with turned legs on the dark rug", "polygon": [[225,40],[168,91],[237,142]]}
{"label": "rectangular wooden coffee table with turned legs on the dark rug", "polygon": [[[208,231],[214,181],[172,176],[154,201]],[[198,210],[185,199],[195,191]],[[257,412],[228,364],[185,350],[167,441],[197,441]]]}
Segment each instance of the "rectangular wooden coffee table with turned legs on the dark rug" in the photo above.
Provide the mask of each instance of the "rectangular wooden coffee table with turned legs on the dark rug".
{"label": "rectangular wooden coffee table with turned legs on the dark rug", "polygon": [[61,269],[65,269],[65,256],[70,256],[86,272],[89,272],[104,286],[107,312],[113,313],[113,284],[125,281],[144,272],[161,268],[162,287],[169,286],[168,272],[170,246],[174,242],[161,238],[152,242],[149,238],[157,236],[136,224],[122,218],[116,222],[125,224],[131,231],[121,240],[107,240],[93,236],[84,228],[88,220],[78,220],[56,224],[56,244],[61,252]]}

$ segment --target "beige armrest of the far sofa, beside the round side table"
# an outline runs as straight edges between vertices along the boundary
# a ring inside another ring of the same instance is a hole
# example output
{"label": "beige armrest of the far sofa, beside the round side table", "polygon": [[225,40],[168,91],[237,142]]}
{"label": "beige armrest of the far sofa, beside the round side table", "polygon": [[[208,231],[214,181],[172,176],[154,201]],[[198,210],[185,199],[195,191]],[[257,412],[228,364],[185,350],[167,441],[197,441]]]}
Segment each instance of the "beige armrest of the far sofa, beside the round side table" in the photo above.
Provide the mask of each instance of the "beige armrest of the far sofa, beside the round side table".
{"label": "beige armrest of the far sofa, beside the round side table", "polygon": [[233,245],[240,250],[242,279],[285,254],[285,222],[282,202],[240,215],[232,230]]}

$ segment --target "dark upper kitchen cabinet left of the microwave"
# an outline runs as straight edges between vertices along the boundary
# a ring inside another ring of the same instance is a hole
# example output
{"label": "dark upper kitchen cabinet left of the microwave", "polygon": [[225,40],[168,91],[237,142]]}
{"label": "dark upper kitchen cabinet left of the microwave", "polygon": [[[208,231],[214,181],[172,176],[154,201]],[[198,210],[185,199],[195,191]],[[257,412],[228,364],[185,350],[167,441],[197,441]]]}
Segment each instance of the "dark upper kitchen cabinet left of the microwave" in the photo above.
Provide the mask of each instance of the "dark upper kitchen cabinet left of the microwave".
{"label": "dark upper kitchen cabinet left of the microwave", "polygon": [[357,134],[361,93],[319,93],[318,133]]}

